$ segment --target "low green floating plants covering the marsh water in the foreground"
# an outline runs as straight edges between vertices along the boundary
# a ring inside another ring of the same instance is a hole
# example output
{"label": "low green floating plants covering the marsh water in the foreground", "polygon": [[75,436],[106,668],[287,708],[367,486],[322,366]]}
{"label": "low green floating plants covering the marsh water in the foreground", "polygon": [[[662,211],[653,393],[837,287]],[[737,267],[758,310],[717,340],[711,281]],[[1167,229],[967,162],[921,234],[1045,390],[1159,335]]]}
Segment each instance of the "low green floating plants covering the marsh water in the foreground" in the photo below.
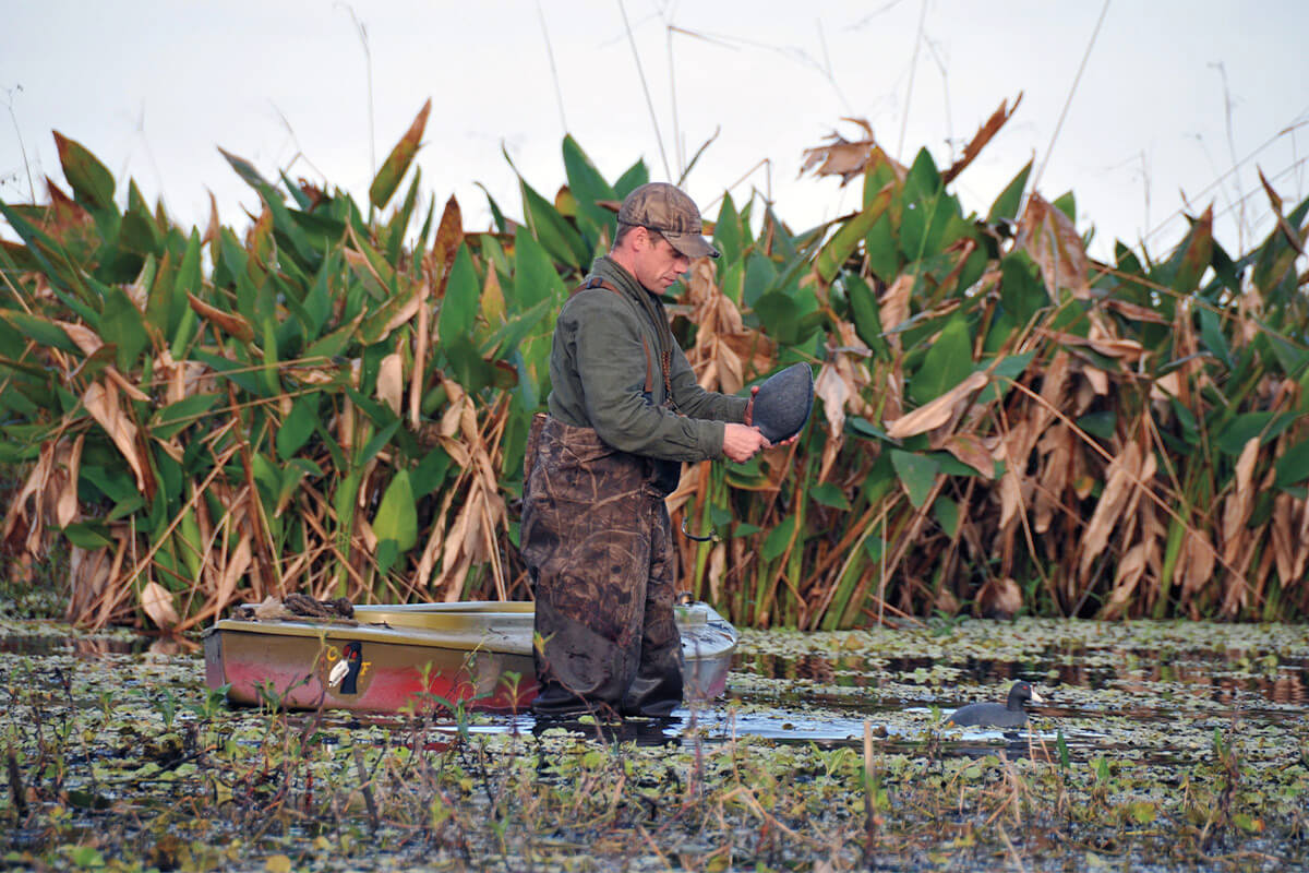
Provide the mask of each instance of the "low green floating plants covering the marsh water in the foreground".
{"label": "low green floating plants covering the marsh water in the foreground", "polygon": [[[622,725],[285,713],[272,707],[276,688],[267,707],[229,709],[185,641],[134,652],[117,636],[54,645],[46,623],[4,630],[0,852],[10,865],[1219,870],[1309,860],[1302,627],[747,633],[732,699]],[[939,665],[928,666],[918,648],[933,641]],[[796,675],[802,658],[810,675]],[[817,669],[825,658],[830,675]],[[1083,658],[1100,666],[1059,678]],[[1052,698],[1033,707],[1030,732],[941,725],[941,709],[996,694],[1012,673]]]}

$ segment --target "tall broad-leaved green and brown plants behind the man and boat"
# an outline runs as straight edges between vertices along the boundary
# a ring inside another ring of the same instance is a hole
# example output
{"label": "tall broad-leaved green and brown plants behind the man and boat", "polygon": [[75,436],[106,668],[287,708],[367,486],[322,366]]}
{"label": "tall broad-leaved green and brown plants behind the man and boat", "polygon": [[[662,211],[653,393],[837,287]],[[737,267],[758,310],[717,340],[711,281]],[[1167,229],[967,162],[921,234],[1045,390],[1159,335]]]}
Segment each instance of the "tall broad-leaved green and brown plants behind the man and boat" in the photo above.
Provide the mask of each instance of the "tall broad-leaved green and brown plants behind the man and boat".
{"label": "tall broad-leaved green and brown plants behind the man and boat", "polygon": [[[58,132],[64,182],[0,203],[21,241],[0,240],[3,539],[67,543],[69,619],[526,597],[550,331],[649,174],[609,181],[568,136],[552,199],[520,177],[521,220],[492,200],[465,232],[412,166],[429,110],[367,204],[224,153],[259,213],[185,228]],[[686,467],[674,525],[720,539],[679,539],[681,577],[757,627],[1304,618],[1309,202],[1266,183],[1276,225],[1249,251],[1210,207],[1172,250],[1098,263],[1030,164],[965,212],[956,179],[1011,115],[944,169],[867,123],[810,149],[806,171],[863,186],[817,228],[723,196],[723,258],[673,292],[672,327],[707,387],[813,368],[819,414],[747,465]]]}

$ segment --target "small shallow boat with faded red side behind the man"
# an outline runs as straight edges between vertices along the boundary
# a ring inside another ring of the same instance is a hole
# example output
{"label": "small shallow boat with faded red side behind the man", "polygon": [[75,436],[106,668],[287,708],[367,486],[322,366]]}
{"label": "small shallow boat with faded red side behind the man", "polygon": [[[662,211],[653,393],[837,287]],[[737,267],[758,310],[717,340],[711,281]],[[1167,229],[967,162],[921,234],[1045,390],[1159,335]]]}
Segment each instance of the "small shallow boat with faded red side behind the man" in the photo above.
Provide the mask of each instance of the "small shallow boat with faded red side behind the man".
{"label": "small shallow boat with faded red side behind the man", "polygon": [[[677,606],[690,700],[726,690],[737,632]],[[524,712],[537,694],[530,602],[356,606],[353,619],[225,618],[204,632],[204,679],[237,704],[287,709]]]}

